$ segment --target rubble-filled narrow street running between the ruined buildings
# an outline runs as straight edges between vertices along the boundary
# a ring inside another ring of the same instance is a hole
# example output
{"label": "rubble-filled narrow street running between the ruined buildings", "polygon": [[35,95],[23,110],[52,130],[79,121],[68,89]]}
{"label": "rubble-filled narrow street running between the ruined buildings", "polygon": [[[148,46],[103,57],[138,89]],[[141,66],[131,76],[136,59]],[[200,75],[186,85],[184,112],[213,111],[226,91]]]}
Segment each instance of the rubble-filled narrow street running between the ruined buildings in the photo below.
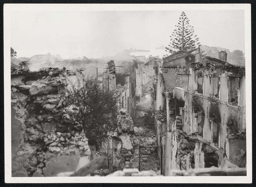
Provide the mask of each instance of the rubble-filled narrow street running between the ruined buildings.
{"label": "rubble-filled narrow street running between the ruined buildings", "polygon": [[146,96],[144,101],[137,104],[137,119],[134,121],[134,133],[140,136],[140,146],[149,148],[140,149],[140,170],[153,170],[160,173],[160,160],[156,153],[156,136],[154,134],[154,120],[152,124],[145,123],[148,118],[146,111],[151,107],[151,97]]}

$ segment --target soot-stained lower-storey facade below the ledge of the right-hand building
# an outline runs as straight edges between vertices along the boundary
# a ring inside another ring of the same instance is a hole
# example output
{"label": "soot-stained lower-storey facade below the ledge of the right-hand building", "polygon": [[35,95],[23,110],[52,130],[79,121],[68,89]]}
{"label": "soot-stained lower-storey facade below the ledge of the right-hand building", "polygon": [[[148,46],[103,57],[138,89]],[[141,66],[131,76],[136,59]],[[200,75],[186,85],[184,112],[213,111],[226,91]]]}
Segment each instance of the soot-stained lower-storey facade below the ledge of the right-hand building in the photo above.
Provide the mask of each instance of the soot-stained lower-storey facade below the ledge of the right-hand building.
{"label": "soot-stained lower-storey facade below the ledge of the right-hand building", "polygon": [[[211,121],[219,125],[219,147],[224,150],[228,134],[236,131],[244,132],[243,108],[224,103],[217,99],[193,95],[193,112],[197,120],[192,121],[192,126],[199,125],[198,118],[203,119],[203,138],[213,142]],[[196,124],[197,123],[197,124]]]}

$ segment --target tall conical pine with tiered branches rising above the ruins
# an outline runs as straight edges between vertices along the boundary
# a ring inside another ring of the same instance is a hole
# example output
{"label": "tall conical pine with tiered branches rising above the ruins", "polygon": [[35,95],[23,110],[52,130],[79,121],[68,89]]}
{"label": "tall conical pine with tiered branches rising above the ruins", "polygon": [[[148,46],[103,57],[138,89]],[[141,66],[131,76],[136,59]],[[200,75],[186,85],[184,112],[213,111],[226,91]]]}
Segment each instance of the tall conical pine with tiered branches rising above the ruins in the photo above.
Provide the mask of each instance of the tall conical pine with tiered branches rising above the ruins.
{"label": "tall conical pine with tiered branches rising above the ruins", "polygon": [[194,36],[194,27],[189,25],[189,19],[185,12],[182,12],[178,25],[175,25],[176,29],[172,32],[170,45],[166,48],[166,52],[175,53],[177,51],[183,50],[188,51],[196,47],[199,44],[196,43],[199,38]]}

